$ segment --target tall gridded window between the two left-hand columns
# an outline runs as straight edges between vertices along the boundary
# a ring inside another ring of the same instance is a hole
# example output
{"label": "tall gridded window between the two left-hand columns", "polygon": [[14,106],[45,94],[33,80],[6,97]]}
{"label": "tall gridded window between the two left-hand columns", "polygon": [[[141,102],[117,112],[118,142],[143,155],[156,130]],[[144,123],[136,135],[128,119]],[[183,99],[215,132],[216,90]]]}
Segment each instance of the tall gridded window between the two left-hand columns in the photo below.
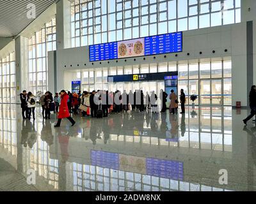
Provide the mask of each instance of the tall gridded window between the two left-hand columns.
{"label": "tall gridded window between the two left-hand columns", "polygon": [[36,94],[48,89],[47,54],[56,50],[56,18],[29,38],[29,91]]}

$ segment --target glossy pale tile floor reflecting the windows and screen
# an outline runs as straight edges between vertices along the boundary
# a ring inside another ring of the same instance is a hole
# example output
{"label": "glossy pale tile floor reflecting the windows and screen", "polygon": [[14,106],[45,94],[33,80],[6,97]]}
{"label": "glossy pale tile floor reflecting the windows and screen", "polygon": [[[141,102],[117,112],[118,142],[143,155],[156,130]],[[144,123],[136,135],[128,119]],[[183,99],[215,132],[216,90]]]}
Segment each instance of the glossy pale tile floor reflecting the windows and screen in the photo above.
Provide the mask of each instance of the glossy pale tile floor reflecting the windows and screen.
{"label": "glossy pale tile floor reflecting the windows and screen", "polygon": [[21,119],[20,106],[1,105],[0,190],[254,191],[256,128],[244,127],[247,114],[186,107],[177,117],[77,115],[76,126],[63,120],[54,128],[54,114],[43,120],[38,109],[33,122]]}

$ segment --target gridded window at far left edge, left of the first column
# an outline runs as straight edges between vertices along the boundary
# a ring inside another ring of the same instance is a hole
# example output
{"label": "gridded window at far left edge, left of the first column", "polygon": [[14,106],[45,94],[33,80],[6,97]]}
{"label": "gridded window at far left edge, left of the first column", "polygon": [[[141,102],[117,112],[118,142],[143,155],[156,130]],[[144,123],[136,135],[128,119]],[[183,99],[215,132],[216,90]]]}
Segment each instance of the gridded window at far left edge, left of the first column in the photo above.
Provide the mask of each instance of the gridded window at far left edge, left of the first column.
{"label": "gridded window at far left edge, left of the first column", "polygon": [[0,103],[16,103],[15,52],[0,59]]}

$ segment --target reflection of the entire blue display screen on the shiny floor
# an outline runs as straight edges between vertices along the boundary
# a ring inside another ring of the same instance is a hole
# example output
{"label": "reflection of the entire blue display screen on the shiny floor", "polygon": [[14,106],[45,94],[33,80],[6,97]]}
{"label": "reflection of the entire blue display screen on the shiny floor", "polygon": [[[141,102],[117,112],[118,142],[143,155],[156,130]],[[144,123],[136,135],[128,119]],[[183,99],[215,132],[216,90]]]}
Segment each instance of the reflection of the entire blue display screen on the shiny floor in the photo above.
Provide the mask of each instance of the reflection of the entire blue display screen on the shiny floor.
{"label": "reflection of the entire blue display screen on the shiny floor", "polygon": [[183,163],[180,161],[91,150],[91,164],[113,170],[131,171],[173,180],[184,180]]}

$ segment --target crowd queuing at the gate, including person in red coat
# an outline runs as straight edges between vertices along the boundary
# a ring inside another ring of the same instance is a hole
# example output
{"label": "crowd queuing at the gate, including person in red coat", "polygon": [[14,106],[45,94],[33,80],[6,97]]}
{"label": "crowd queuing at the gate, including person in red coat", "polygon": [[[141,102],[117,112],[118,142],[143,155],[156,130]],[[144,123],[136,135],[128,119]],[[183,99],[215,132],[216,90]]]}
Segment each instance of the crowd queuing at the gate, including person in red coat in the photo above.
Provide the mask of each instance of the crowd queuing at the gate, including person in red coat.
{"label": "crowd queuing at the gate, including person in red coat", "polygon": [[[161,101],[161,112],[164,113],[167,110],[166,102],[168,94],[161,89],[160,91],[160,101]],[[183,89],[180,90],[180,104],[181,112],[185,113],[185,94]],[[42,116],[43,119],[51,119],[51,111],[57,113],[58,122],[54,127],[60,127],[61,120],[67,118],[70,120],[72,126],[76,124],[74,119],[70,114],[80,114],[83,117],[108,117],[109,113],[120,113],[127,111],[148,112],[157,113],[159,108],[157,104],[157,94],[152,91],[150,94],[146,92],[143,93],[142,90],[136,90],[135,92],[129,91],[127,93],[124,91],[109,92],[109,91],[79,91],[76,92],[66,92],[62,90],[60,93],[56,92],[55,96],[47,91],[45,94],[40,96],[38,102],[36,102],[36,97],[32,92],[23,91],[20,94],[21,108],[22,108],[22,118],[31,119],[31,114],[33,115],[33,120],[35,120],[35,107],[36,103],[40,103],[42,106]],[[177,114],[177,109],[179,106],[179,101],[177,94],[172,90],[169,95],[170,99],[170,114]]]}

